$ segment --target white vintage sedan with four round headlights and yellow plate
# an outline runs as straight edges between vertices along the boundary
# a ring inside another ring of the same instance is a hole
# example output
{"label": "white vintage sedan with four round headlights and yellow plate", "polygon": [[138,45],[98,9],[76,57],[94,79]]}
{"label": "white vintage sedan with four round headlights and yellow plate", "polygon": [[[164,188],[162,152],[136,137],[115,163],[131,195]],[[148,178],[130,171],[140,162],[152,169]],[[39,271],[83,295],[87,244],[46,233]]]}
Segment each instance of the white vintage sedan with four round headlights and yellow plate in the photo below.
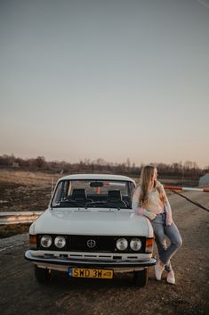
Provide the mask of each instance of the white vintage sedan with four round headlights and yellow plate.
{"label": "white vintage sedan with four round headlights and yellow plate", "polygon": [[135,215],[132,178],[76,174],[60,178],[49,207],[29,228],[25,258],[48,283],[52,270],[70,278],[114,278],[133,272],[137,286],[148,282],[156,264],[149,220]]}

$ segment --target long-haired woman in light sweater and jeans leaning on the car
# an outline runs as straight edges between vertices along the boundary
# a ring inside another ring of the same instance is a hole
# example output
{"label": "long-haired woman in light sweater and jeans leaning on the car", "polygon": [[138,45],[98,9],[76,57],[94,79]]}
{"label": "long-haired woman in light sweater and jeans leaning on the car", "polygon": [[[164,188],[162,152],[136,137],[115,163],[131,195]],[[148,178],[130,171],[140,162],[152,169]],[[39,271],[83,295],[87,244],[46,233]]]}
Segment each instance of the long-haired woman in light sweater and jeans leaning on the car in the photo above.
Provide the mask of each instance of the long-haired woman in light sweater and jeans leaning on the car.
{"label": "long-haired woman in light sweater and jeans leaning on the car", "polygon": [[[173,254],[181,247],[181,235],[173,222],[170,203],[165,195],[163,185],[157,181],[157,168],[152,165],[145,166],[141,171],[141,186],[133,194],[133,211],[138,215],[149,218],[159,253],[155,266],[156,278],[161,279],[164,269],[168,272],[166,281],[175,283],[175,276],[171,265]],[[167,247],[165,236],[171,244]]]}

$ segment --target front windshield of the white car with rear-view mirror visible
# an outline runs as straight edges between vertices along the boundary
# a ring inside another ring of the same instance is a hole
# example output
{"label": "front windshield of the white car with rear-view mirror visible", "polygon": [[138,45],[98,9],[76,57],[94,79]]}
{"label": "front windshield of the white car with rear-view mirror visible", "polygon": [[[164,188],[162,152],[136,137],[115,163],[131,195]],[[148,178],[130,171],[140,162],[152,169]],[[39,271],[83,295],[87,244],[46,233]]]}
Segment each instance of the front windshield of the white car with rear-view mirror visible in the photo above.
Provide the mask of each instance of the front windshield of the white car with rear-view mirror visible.
{"label": "front windshield of the white car with rear-view mirror visible", "polygon": [[131,209],[132,181],[79,179],[60,180],[52,197],[52,208]]}

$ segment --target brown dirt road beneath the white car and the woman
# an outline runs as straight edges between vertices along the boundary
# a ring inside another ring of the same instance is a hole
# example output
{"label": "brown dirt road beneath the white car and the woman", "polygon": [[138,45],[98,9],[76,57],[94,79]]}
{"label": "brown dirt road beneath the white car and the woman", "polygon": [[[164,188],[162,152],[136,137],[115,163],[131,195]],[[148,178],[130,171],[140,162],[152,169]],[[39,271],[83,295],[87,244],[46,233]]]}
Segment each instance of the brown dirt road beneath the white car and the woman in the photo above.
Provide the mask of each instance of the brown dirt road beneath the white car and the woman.
{"label": "brown dirt road beneath the white car and the woman", "polygon": [[[209,208],[209,194],[187,196]],[[132,276],[113,280],[69,279],[55,274],[50,286],[36,282],[33,265],[23,258],[28,236],[0,240],[0,313],[2,315],[138,315],[209,313],[209,212],[180,196],[169,196],[173,218],[183,245],[173,257],[176,285],[155,279],[150,269],[148,286],[133,286]]]}

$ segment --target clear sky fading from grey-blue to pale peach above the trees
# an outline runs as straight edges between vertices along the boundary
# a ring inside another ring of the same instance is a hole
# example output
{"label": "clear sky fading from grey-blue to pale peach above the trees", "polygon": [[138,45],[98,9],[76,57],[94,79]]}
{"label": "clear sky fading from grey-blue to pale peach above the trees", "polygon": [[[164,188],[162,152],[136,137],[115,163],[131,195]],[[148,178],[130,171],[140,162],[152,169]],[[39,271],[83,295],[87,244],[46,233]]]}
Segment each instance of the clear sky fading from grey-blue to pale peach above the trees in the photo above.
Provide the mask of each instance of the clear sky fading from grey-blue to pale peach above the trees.
{"label": "clear sky fading from grey-blue to pale peach above the trees", "polygon": [[209,165],[209,1],[0,0],[0,155]]}

